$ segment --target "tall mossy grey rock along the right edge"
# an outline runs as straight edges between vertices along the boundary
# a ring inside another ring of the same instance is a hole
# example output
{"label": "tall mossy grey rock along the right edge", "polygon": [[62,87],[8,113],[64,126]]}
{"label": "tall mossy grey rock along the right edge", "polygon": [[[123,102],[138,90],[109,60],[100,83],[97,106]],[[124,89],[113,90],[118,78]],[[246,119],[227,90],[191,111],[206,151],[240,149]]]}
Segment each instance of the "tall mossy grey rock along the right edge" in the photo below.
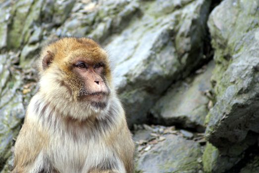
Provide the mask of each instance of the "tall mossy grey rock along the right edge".
{"label": "tall mossy grey rock along the right edge", "polygon": [[258,6],[256,0],[224,0],[208,20],[217,101],[207,116],[206,134],[209,142],[225,150],[246,143],[249,132],[255,138],[259,133]]}

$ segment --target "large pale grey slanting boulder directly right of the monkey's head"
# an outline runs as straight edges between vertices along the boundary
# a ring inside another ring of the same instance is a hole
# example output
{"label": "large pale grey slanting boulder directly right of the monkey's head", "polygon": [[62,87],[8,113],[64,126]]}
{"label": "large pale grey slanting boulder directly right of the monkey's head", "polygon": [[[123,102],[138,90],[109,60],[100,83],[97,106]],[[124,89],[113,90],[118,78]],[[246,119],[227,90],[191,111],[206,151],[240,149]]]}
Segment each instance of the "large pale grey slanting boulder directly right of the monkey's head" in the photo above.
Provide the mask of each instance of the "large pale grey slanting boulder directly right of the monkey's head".
{"label": "large pale grey slanting boulder directly right of the monkey's head", "polygon": [[142,1],[143,15],[133,17],[121,34],[106,43],[130,126],[146,122],[158,96],[203,60],[210,1],[177,2]]}

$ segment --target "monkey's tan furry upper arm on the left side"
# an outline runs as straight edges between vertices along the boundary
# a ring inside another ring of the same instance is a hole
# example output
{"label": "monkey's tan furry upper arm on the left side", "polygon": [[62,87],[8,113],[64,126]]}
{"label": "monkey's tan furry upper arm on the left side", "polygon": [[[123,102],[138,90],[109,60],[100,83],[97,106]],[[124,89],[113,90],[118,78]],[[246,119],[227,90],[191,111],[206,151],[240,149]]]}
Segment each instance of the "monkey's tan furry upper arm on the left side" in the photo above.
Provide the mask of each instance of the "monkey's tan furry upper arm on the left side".
{"label": "monkey's tan furry upper arm on the left side", "polygon": [[49,169],[43,151],[48,137],[36,122],[35,118],[31,120],[26,116],[15,143],[12,173],[39,173]]}

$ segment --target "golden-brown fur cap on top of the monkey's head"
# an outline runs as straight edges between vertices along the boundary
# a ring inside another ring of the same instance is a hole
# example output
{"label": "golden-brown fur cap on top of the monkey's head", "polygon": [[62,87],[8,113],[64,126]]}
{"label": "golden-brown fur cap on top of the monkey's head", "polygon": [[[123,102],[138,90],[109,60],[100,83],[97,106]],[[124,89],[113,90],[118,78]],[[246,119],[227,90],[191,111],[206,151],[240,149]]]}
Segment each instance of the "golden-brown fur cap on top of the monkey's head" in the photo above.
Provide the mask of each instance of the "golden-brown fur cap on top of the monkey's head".
{"label": "golden-brown fur cap on top of the monkey's head", "polygon": [[107,53],[104,49],[95,41],[89,38],[75,38],[75,37],[64,37],[56,40],[51,44],[48,44],[42,48],[41,55],[39,58],[39,71],[42,74],[42,60],[48,54],[48,51],[52,52],[53,64],[58,65],[62,70],[69,73],[67,69],[68,65],[73,63],[73,60],[77,57],[91,60],[93,63],[104,62],[106,65],[105,74],[108,81],[111,81],[109,62],[107,61]]}

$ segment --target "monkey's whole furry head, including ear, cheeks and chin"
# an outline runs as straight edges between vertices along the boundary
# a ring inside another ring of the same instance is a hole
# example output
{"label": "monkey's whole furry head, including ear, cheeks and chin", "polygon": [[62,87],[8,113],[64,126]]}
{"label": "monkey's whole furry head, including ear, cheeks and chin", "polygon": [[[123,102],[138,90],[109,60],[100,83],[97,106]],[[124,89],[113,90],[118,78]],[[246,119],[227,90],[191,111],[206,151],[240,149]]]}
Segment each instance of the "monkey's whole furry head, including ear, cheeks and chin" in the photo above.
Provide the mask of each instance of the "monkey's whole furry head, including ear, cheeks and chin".
{"label": "monkey's whole furry head, including ear, cheeks and chin", "polygon": [[62,38],[49,44],[42,49],[39,70],[39,93],[63,114],[76,112],[69,116],[83,119],[107,110],[111,72],[106,52],[95,41]]}

